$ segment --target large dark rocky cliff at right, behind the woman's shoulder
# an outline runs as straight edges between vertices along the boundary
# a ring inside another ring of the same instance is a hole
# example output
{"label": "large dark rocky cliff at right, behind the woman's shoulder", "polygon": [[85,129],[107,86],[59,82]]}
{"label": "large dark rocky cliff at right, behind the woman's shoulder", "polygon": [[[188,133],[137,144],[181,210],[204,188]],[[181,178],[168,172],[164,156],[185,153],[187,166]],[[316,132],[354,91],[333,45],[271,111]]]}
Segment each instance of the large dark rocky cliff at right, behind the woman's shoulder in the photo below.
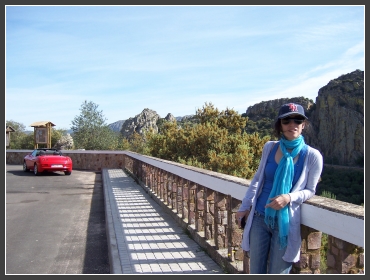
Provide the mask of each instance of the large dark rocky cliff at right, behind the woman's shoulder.
{"label": "large dark rocky cliff at right, behind the woman's shoulder", "polygon": [[331,80],[320,88],[312,110],[313,135],[327,163],[355,165],[364,159],[364,71]]}

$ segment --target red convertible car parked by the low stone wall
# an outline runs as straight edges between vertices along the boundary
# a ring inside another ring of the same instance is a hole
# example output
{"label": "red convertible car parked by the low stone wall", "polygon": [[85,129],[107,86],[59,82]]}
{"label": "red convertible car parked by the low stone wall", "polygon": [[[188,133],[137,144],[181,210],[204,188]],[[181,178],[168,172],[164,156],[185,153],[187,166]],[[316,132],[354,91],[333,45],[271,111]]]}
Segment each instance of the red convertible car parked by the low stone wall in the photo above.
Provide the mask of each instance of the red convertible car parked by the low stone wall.
{"label": "red convertible car parked by the low stone wall", "polygon": [[42,172],[62,171],[65,175],[72,174],[72,159],[63,156],[62,152],[52,148],[40,148],[26,155],[23,159],[23,171],[33,170],[35,175]]}

